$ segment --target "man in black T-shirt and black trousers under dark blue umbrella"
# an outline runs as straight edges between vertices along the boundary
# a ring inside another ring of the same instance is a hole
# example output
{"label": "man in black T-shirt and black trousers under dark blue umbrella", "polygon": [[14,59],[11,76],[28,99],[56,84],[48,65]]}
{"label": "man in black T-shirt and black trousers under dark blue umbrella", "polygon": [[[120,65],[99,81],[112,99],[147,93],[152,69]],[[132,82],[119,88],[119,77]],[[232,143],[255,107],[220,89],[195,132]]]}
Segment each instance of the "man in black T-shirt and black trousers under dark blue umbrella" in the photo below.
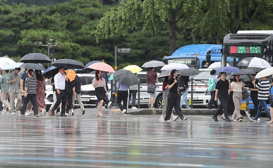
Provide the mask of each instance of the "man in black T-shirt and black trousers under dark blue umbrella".
{"label": "man in black T-shirt and black trousers under dark blue umbrella", "polygon": [[217,81],[216,86],[215,86],[215,98],[214,100],[217,101],[217,97],[220,100],[220,106],[215,112],[214,116],[212,117],[214,121],[217,120],[217,116],[221,113],[222,109],[224,110],[224,116],[225,116],[225,121],[226,122],[231,122],[228,116],[228,98],[229,98],[229,89],[231,89],[231,80],[226,80],[226,73],[221,72],[221,79]]}

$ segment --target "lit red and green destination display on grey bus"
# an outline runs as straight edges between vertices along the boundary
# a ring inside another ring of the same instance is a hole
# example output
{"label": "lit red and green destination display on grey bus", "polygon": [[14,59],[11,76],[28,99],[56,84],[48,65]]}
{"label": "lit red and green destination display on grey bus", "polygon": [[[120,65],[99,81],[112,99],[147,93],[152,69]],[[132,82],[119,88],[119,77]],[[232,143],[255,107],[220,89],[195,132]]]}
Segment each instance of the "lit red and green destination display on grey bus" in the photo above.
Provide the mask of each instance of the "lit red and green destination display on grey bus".
{"label": "lit red and green destination display on grey bus", "polygon": [[230,46],[230,53],[261,53],[260,46]]}

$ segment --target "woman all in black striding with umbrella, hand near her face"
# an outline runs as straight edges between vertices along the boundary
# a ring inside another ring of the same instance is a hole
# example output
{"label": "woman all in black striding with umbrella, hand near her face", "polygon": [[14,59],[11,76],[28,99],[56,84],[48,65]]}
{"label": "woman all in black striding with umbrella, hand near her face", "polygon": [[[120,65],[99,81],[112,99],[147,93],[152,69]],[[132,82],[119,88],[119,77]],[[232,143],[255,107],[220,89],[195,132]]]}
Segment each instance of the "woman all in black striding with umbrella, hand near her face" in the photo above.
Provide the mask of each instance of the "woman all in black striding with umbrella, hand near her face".
{"label": "woman all in black striding with umbrella, hand near her face", "polygon": [[177,113],[177,117],[173,121],[176,121],[178,117],[180,117],[181,122],[184,122],[185,120],[187,120],[187,118],[182,115],[182,110],[180,108],[180,96],[177,92],[177,89],[182,89],[182,88],[180,87],[178,88],[177,70],[175,69],[172,70],[170,75],[171,75],[171,78],[169,79],[169,82],[168,82],[168,88],[169,88],[168,105],[167,105],[166,117],[164,121],[168,121],[170,119],[172,108],[174,107]]}

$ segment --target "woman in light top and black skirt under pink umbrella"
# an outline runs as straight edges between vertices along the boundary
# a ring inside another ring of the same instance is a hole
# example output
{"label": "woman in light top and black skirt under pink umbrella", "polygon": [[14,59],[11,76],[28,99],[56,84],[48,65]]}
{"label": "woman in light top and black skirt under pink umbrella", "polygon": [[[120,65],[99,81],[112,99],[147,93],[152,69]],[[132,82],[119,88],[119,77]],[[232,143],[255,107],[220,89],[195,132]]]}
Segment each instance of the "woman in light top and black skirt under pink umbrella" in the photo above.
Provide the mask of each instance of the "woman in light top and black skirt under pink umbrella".
{"label": "woman in light top and black skirt under pink umbrella", "polygon": [[92,81],[92,85],[95,87],[95,94],[98,98],[98,114],[97,117],[103,117],[102,116],[102,105],[103,105],[103,99],[104,94],[108,95],[107,89],[106,89],[106,81],[104,78],[102,78],[102,72],[97,70],[96,71],[96,77]]}

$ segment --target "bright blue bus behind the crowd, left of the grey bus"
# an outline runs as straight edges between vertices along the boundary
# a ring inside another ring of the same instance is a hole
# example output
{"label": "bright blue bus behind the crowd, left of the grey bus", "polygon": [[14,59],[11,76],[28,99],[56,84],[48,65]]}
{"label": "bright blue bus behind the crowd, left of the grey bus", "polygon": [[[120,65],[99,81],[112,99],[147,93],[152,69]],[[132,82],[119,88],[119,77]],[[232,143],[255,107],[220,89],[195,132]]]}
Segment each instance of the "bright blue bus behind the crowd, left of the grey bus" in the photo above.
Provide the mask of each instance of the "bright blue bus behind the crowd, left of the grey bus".
{"label": "bright blue bus behind the crowd, left of the grey bus", "polygon": [[[209,57],[207,57],[209,55]],[[196,69],[208,68],[214,62],[220,62],[222,45],[219,44],[191,44],[178,48],[162,61],[165,64],[180,63]],[[228,64],[234,65],[234,59],[228,57]],[[238,61],[235,60],[235,61]]]}

